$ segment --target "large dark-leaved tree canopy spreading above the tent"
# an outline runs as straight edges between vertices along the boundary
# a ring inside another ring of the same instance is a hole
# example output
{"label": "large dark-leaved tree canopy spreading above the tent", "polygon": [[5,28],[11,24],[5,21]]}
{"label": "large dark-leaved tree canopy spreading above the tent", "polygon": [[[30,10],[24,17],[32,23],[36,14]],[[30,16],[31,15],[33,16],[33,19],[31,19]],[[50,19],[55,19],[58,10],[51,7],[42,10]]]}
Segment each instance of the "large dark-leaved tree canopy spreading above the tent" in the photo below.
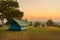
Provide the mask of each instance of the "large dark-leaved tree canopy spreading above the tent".
{"label": "large dark-leaved tree canopy spreading above the tent", "polygon": [[14,18],[16,15],[23,17],[23,12],[19,9],[17,0],[0,0],[0,13],[5,16],[8,20]]}

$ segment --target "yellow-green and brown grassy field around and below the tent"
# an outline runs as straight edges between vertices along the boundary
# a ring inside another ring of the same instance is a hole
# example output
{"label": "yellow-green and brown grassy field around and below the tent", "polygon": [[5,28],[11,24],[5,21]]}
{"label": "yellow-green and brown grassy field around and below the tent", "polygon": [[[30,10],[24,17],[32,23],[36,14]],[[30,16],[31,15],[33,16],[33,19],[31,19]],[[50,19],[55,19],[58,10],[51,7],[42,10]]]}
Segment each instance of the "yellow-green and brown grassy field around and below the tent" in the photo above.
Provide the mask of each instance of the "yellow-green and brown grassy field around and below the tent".
{"label": "yellow-green and brown grassy field around and below the tent", "polygon": [[60,28],[26,27],[23,31],[9,31],[8,27],[0,27],[0,40],[60,40]]}

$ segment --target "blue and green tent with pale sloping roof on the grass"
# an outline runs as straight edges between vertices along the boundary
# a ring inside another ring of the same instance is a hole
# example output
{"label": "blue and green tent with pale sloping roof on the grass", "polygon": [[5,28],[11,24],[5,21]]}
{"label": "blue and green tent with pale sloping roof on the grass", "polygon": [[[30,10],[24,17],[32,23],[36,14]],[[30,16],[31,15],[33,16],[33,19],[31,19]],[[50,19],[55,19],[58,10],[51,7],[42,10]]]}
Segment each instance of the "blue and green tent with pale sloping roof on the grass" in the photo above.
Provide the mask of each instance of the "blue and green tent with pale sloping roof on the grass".
{"label": "blue and green tent with pale sloping roof on the grass", "polygon": [[10,19],[7,24],[9,25],[9,30],[25,30],[28,22],[24,20]]}

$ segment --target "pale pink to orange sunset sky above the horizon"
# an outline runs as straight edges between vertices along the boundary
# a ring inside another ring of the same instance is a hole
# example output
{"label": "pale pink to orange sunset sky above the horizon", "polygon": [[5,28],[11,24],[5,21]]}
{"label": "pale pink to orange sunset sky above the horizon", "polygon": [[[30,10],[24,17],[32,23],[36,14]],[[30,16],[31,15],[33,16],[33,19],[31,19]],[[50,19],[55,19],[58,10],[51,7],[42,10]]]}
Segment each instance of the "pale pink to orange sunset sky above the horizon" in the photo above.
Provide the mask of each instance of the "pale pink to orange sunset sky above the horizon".
{"label": "pale pink to orange sunset sky above the horizon", "polygon": [[18,0],[25,19],[60,21],[60,0]]}

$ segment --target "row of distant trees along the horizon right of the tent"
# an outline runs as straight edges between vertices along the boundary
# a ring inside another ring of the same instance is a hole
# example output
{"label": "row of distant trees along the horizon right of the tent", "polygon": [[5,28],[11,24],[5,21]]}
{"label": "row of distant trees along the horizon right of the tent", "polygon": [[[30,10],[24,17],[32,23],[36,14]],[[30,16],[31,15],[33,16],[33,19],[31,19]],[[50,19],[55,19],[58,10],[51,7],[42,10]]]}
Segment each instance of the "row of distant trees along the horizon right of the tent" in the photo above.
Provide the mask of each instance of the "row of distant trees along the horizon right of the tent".
{"label": "row of distant trees along the horizon right of the tent", "polygon": [[38,27],[38,26],[52,26],[52,27],[60,27],[58,24],[56,24],[52,19],[47,20],[47,22],[44,24],[41,24],[39,21],[36,21],[34,24],[33,22],[30,22],[29,26],[34,26],[34,27]]}

